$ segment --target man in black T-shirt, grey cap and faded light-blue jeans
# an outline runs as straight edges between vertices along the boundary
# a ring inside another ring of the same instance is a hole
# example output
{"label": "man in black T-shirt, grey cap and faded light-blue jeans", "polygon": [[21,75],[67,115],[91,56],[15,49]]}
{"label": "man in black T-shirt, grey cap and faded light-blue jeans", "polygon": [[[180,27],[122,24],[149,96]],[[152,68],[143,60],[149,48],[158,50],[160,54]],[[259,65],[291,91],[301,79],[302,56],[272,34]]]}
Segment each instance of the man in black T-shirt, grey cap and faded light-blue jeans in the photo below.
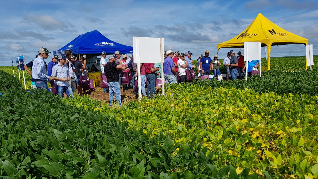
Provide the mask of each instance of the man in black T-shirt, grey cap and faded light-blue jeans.
{"label": "man in black T-shirt, grey cap and faded light-blue jeans", "polygon": [[116,57],[115,55],[107,55],[108,62],[104,66],[105,75],[107,77],[107,83],[109,87],[109,105],[113,106],[114,94],[116,96],[116,100],[121,108],[121,92],[120,92],[120,84],[118,82],[119,75],[118,70],[122,70],[121,60],[117,59],[119,65],[115,63]]}

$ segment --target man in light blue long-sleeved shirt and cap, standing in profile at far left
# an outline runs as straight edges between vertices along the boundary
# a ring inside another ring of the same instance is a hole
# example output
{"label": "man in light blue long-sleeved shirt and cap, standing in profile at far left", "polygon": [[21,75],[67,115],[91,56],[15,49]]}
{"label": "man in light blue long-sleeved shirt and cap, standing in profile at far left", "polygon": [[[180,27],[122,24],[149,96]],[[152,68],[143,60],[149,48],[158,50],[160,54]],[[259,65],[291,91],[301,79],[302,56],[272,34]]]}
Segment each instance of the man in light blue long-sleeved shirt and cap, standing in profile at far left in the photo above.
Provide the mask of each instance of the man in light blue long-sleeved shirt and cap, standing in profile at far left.
{"label": "man in light blue long-sleeved shirt and cap, standing in profile at far left", "polygon": [[34,59],[33,65],[32,65],[32,78],[35,80],[35,86],[37,89],[47,89],[47,83],[46,80],[52,81],[52,76],[46,75],[46,68],[44,59],[46,59],[49,54],[49,52],[46,48],[42,47],[39,49],[39,56],[38,58]]}

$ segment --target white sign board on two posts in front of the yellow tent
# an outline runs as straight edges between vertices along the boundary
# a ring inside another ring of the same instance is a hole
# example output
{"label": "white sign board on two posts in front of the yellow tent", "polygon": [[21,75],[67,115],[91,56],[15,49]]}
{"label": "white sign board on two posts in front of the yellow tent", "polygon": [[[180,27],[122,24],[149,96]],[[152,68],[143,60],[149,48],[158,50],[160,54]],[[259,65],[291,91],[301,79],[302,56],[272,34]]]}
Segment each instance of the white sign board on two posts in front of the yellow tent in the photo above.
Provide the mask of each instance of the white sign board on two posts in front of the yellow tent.
{"label": "white sign board on two posts in front of the yellow tent", "polygon": [[[261,49],[260,42],[244,42],[244,60],[246,61],[246,69],[247,72],[248,61],[259,60],[261,62]],[[261,63],[259,63],[259,77],[261,74]],[[245,80],[247,80],[247,73],[245,74]]]}

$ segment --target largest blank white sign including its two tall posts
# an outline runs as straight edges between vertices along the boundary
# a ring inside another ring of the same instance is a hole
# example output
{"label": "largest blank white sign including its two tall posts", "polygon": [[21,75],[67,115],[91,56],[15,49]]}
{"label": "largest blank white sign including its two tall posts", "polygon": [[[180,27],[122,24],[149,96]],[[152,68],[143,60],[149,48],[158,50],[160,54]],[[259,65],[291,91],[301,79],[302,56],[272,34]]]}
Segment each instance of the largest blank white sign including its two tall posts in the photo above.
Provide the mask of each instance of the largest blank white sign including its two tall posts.
{"label": "largest blank white sign including its two tall posts", "polygon": [[134,41],[134,63],[137,63],[138,72],[138,92],[139,100],[141,99],[141,76],[140,64],[141,63],[161,63],[162,69],[162,95],[164,95],[164,74],[163,74],[163,53],[164,44],[163,38],[152,37],[133,37]]}

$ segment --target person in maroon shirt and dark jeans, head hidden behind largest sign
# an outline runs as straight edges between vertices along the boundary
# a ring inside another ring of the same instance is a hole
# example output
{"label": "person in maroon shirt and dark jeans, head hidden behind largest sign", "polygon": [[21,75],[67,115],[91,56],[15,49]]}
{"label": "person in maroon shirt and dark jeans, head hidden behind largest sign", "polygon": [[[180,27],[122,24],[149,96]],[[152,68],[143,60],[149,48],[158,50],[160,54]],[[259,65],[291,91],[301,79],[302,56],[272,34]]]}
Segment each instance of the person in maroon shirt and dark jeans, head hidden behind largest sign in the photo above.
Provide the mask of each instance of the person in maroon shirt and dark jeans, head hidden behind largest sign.
{"label": "person in maroon shirt and dark jeans, head hidden behind largest sign", "polygon": [[144,63],[147,78],[147,97],[152,99],[152,95],[156,92],[156,76],[155,72],[159,70],[159,68],[155,68],[154,63]]}

